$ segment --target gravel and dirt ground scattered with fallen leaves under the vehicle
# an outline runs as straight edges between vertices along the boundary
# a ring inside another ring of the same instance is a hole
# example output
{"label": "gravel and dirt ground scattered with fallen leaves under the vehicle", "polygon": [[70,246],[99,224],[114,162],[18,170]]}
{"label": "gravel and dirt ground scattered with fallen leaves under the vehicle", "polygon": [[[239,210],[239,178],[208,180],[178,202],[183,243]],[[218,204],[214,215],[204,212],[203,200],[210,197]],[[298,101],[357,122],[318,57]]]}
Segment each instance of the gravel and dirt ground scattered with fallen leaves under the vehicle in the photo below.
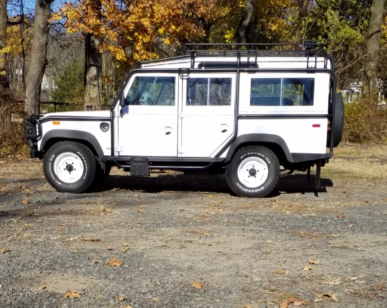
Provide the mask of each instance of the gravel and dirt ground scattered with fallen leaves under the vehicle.
{"label": "gravel and dirt ground scattered with fallen leaves under the vehicle", "polygon": [[0,307],[387,307],[386,153],[340,146],[320,192],[284,172],[260,199],[115,168],[64,194],[38,160],[4,159]]}

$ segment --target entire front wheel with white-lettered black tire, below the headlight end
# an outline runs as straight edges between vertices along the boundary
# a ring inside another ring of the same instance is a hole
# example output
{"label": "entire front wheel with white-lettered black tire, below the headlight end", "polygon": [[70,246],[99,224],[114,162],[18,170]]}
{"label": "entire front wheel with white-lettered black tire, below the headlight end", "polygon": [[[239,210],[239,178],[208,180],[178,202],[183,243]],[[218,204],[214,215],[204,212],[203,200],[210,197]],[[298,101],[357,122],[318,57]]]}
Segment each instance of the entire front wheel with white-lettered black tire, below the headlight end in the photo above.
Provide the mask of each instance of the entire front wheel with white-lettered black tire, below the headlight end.
{"label": "entire front wheel with white-lettered black tire, below the headlight end", "polygon": [[84,144],[58,142],[47,151],[43,171],[47,181],[58,192],[84,192],[95,177],[96,160]]}

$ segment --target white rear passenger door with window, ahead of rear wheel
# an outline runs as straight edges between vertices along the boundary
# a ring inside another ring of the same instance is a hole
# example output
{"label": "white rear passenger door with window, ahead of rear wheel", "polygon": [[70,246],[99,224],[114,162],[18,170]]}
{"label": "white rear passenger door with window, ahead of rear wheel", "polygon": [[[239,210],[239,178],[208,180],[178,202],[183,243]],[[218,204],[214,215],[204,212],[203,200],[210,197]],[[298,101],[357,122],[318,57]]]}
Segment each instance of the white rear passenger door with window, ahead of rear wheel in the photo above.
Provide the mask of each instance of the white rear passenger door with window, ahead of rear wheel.
{"label": "white rear passenger door with window, ahead of rear wheel", "polygon": [[235,130],[236,74],[182,77],[179,157],[214,157]]}

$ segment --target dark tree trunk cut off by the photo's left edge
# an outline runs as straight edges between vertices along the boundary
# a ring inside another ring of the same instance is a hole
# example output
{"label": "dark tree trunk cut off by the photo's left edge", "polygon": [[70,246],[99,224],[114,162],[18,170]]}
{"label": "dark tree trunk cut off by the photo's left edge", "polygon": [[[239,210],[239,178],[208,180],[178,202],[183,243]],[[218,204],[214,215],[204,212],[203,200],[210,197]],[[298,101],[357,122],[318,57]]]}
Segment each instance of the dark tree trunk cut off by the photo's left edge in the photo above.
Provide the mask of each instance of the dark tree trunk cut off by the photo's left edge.
{"label": "dark tree trunk cut off by the photo's left edge", "polygon": [[[0,50],[7,44],[7,0],[0,0]],[[11,128],[10,82],[6,69],[6,53],[0,53],[0,133]]]}

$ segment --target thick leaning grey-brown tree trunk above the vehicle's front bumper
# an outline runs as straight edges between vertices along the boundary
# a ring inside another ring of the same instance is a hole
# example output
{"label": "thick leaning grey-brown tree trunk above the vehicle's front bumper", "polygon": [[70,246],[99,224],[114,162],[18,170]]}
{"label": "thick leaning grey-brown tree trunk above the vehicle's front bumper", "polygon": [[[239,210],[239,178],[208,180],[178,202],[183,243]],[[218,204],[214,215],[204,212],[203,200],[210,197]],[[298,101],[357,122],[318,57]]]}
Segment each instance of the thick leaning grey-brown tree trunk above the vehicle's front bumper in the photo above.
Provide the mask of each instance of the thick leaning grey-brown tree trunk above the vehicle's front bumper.
{"label": "thick leaning grey-brown tree trunk above the vehicle's front bumper", "polygon": [[39,114],[40,92],[43,75],[48,64],[50,5],[53,0],[36,0],[31,60],[25,82],[25,113],[27,116]]}

